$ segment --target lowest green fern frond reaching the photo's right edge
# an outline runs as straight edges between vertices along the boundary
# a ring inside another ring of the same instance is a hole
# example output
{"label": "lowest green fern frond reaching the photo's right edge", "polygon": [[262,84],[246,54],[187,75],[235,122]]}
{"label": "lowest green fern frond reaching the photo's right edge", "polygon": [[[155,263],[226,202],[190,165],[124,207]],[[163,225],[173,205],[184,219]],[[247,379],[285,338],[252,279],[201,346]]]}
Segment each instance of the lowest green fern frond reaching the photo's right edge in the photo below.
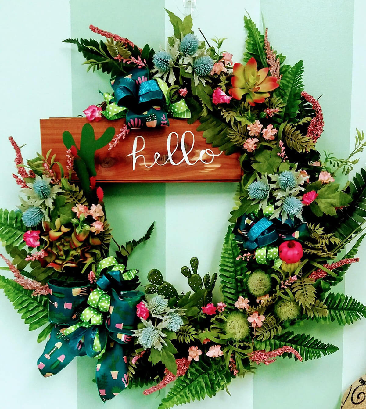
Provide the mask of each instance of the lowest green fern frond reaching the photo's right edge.
{"label": "lowest green fern frond reaching the photo's right edge", "polygon": [[[353,297],[344,294],[329,293],[323,300],[328,306],[328,315],[323,317],[327,321],[334,322],[337,320],[339,325],[353,324],[353,321],[366,318],[366,306]],[[317,319],[320,321],[320,319]]]}

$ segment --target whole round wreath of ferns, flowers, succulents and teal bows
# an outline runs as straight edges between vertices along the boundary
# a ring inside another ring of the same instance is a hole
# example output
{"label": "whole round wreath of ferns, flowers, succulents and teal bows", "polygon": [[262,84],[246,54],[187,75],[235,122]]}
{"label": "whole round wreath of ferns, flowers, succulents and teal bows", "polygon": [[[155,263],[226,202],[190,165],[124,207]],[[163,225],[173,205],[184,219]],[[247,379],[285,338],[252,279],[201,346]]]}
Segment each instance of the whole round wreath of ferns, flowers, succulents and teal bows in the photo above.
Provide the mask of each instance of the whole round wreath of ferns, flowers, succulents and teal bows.
{"label": "whole round wreath of ferns, flowers, succulents and teal bows", "polygon": [[[85,124],[79,147],[66,131],[67,170],[51,152],[24,163],[10,137],[23,196],[17,210],[1,210],[0,218],[11,261],[1,257],[14,275],[0,276],[0,286],[29,330],[42,327],[40,373],[54,375],[75,356],[94,357],[103,401],[127,387],[150,394],[175,381],[162,409],[212,397],[278,356],[306,361],[337,351],[294,333],[304,320],[344,325],[366,316],[362,303],[330,292],[359,261],[365,235],[366,171],[345,186],[337,182],[357,163],[364,133],[357,130],[347,158],[326,152],[321,159],[315,146],[323,116],[319,101],[303,90],[302,61],[286,65],[267,30],[261,34],[245,17],[247,51],[243,63],[233,64],[222,51],[224,39],[209,46],[193,34],[191,16],[167,12],[174,35],[158,52],[92,25],[105,42],[65,40],[78,47],[88,70],[112,78],[113,92],[83,111],[87,119],[126,123],[99,139]],[[199,121],[207,144],[226,155],[239,152],[243,169],[219,275],[201,276],[193,257],[181,269],[190,287],[183,292],[157,269],[140,287],[141,273],[128,268],[154,224],[140,239],[116,243],[111,254],[94,164],[97,149],[113,149],[133,128],[169,126],[168,117]],[[213,301],[218,278],[221,295]]]}

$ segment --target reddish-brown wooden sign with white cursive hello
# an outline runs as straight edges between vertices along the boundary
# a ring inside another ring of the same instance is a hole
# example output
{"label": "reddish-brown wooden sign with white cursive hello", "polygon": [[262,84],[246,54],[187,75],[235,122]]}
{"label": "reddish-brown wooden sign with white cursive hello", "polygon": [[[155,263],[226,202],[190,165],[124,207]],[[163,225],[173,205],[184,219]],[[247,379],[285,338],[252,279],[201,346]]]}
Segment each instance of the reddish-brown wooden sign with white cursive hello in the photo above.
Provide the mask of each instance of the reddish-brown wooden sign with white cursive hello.
{"label": "reddish-brown wooden sign with white cursive hello", "polygon": [[[241,178],[239,154],[225,155],[206,143],[196,130],[200,124],[184,119],[169,119],[165,128],[132,129],[126,139],[108,151],[96,151],[95,169],[99,182],[236,182]],[[42,153],[49,149],[66,169],[66,148],[62,134],[69,131],[80,146],[81,128],[86,118],[40,120]],[[95,138],[112,126],[119,133],[124,119],[90,123]]]}

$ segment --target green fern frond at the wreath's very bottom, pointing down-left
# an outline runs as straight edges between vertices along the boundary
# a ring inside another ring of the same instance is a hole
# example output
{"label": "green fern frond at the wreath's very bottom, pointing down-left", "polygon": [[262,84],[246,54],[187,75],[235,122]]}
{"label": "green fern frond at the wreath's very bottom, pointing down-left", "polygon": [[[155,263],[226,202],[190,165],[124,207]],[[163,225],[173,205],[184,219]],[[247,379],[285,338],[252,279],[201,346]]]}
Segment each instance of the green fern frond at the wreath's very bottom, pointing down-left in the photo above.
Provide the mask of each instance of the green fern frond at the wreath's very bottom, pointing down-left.
{"label": "green fern frond at the wreath's very bottom, pointing down-left", "polygon": [[212,398],[218,391],[225,389],[230,381],[231,373],[222,362],[216,363],[211,360],[207,364],[203,359],[192,362],[187,373],[177,378],[174,386],[159,405],[159,409],[201,400],[205,396]]}

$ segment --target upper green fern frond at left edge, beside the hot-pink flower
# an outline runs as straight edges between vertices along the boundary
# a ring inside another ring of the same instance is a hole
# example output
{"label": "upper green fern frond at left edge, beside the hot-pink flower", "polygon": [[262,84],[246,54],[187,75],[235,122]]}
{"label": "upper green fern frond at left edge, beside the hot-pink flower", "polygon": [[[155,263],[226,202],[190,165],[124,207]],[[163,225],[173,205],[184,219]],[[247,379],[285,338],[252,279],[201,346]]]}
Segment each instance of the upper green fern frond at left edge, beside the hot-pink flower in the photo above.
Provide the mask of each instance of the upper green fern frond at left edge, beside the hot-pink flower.
{"label": "upper green fern frond at left edge, beside the hot-pink flower", "polygon": [[23,234],[27,231],[22,222],[22,213],[0,209],[0,241],[7,248],[25,246]]}

